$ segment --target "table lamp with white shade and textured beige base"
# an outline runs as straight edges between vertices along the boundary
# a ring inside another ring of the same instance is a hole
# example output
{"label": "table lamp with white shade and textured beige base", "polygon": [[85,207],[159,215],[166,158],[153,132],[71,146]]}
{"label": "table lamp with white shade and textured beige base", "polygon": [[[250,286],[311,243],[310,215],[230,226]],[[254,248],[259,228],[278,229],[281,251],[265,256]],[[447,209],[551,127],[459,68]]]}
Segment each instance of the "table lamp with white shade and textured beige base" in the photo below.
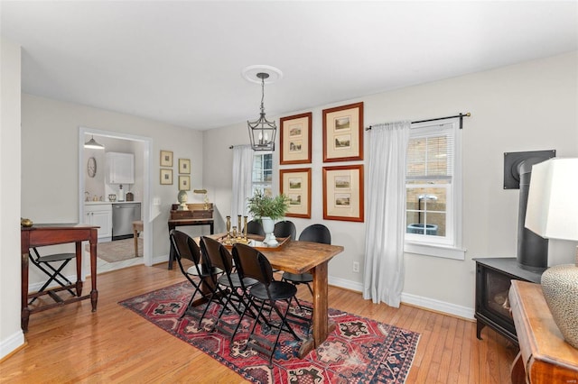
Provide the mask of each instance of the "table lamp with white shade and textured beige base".
{"label": "table lamp with white shade and textured beige base", "polygon": [[[532,167],[526,227],[546,239],[578,241],[578,158]],[[542,291],[564,340],[578,348],[578,247],[575,264],[545,270]]]}

